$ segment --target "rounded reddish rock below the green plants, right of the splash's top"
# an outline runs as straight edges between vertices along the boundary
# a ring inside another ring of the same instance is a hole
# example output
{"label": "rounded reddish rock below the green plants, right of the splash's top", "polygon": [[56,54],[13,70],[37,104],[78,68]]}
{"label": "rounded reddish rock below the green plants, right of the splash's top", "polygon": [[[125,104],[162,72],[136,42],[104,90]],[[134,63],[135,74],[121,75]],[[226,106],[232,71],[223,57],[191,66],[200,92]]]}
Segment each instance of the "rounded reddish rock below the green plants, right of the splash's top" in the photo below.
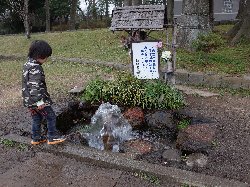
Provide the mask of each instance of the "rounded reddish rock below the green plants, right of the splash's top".
{"label": "rounded reddish rock below the green plants, right of the splash's top", "polygon": [[144,112],[140,107],[129,108],[123,113],[133,129],[138,129],[144,124]]}

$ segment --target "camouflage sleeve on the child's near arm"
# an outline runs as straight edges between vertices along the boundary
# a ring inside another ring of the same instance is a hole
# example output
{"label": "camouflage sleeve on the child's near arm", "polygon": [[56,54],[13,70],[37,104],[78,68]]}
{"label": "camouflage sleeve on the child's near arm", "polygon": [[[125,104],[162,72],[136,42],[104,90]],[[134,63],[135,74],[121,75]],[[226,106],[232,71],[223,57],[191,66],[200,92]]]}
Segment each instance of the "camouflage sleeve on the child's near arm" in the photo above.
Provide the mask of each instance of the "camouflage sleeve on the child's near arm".
{"label": "camouflage sleeve on the child's near arm", "polygon": [[43,98],[44,92],[43,70],[39,66],[34,66],[29,71],[29,92],[31,99],[36,103]]}

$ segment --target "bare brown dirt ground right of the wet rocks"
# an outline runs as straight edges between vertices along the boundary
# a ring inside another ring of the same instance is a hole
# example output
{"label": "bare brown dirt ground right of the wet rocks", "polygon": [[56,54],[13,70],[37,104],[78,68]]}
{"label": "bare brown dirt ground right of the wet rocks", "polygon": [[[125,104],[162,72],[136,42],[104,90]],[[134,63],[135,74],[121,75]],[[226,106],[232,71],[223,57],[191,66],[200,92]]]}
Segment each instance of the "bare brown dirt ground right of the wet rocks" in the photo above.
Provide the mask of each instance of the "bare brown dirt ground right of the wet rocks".
{"label": "bare brown dirt ground right of the wet rocks", "polygon": [[206,168],[198,172],[250,184],[250,98],[187,97],[189,112],[216,126],[216,146]]}

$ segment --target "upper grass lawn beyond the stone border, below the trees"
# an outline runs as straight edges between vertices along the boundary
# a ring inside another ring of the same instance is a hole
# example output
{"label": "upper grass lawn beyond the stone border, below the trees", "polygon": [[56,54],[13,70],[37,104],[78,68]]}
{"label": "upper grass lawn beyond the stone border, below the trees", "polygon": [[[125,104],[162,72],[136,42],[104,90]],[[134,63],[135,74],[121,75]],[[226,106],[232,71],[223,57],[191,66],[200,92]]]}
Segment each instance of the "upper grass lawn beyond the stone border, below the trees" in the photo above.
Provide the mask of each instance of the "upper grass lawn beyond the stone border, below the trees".
{"label": "upper grass lawn beyond the stone border, below the trees", "polygon": [[[215,27],[213,36],[222,38],[223,45],[210,53],[177,50],[177,68],[189,71],[216,72],[226,74],[244,74],[250,72],[250,43],[241,42],[235,47],[229,45],[224,34],[233,25]],[[31,40],[24,35],[0,36],[0,54],[27,55],[32,40],[43,39],[53,48],[54,57],[83,58],[86,60],[131,63],[131,59],[120,43],[125,32],[112,33],[108,29],[78,30],[75,32],[54,32],[32,34]],[[214,39],[212,36],[212,40]],[[166,43],[166,32],[150,33],[150,40],[162,40]]]}

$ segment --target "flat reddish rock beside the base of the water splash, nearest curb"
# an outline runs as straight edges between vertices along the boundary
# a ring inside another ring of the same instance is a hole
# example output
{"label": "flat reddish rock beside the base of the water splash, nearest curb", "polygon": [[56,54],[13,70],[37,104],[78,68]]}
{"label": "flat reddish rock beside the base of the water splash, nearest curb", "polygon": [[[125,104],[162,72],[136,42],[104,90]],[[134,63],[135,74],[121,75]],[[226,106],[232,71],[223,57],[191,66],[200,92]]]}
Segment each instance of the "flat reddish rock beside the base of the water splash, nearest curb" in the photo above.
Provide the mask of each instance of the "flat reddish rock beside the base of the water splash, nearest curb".
{"label": "flat reddish rock beside the base of the water splash, nearest curb", "polygon": [[141,139],[128,140],[122,144],[121,150],[125,153],[142,155],[151,152],[153,144]]}

